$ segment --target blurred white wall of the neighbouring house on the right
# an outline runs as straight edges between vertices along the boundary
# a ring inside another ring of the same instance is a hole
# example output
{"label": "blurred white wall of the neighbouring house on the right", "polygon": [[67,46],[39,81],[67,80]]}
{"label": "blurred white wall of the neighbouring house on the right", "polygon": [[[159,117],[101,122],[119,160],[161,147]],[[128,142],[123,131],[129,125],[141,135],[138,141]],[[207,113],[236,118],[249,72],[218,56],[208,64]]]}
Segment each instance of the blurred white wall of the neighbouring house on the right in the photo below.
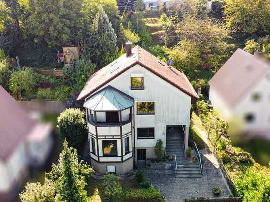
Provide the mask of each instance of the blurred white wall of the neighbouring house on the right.
{"label": "blurred white wall of the neighbouring house on the right", "polygon": [[[241,131],[270,132],[270,70],[252,83],[233,105],[226,105],[218,92],[210,86],[209,99],[220,117],[238,124]],[[233,89],[232,89],[233,93]],[[255,99],[254,96],[258,98]],[[252,116],[247,121],[247,116]],[[266,134],[265,134],[266,135]]]}

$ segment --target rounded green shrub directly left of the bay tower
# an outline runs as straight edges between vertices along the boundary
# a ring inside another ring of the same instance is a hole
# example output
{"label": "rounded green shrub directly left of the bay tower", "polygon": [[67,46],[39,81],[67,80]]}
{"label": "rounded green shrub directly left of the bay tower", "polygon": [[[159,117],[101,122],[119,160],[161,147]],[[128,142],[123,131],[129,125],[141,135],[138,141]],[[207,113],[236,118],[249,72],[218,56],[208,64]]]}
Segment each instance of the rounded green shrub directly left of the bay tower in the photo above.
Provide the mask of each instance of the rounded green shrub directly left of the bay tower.
{"label": "rounded green shrub directly left of the bay tower", "polygon": [[57,127],[62,139],[68,144],[78,147],[87,134],[85,112],[80,109],[69,108],[61,112],[57,118]]}

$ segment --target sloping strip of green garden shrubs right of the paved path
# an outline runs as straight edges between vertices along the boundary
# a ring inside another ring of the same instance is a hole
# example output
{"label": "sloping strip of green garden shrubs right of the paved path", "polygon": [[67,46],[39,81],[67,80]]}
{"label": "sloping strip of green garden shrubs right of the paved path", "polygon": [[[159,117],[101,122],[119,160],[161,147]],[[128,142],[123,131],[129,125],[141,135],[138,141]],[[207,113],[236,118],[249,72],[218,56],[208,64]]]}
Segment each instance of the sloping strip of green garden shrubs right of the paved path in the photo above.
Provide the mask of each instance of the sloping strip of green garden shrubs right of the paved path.
{"label": "sloping strip of green garden shrubs right of the paved path", "polygon": [[270,167],[256,163],[250,153],[232,145],[227,135],[228,124],[218,117],[217,112],[209,109],[207,103],[198,101],[197,107],[203,125],[200,128],[207,133],[210,145],[224,164],[232,186],[243,202],[269,202]]}

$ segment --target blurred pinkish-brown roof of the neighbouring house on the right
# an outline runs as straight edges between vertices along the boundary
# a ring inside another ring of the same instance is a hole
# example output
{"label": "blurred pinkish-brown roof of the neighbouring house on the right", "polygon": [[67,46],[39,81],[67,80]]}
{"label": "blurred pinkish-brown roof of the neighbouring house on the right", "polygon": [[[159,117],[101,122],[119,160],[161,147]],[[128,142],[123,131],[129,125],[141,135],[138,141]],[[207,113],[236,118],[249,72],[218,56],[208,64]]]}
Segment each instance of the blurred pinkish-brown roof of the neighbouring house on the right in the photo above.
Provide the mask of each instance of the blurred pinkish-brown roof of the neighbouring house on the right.
{"label": "blurred pinkish-brown roof of the neighbouring house on the right", "polygon": [[268,62],[238,48],[209,81],[209,85],[231,106],[245,95],[251,85],[268,69]]}

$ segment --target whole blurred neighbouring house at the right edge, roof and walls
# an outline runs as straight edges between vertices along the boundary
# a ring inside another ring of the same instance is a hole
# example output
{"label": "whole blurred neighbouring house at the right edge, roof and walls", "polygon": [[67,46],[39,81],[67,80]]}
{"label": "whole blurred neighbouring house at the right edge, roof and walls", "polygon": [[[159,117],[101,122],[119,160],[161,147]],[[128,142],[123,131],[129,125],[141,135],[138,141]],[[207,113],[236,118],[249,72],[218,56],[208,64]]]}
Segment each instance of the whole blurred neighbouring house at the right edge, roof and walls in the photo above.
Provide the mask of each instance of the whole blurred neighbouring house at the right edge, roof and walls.
{"label": "whole blurred neighbouring house at the right edge, roof and walls", "polygon": [[209,81],[209,98],[240,133],[270,139],[270,63],[237,49]]}

